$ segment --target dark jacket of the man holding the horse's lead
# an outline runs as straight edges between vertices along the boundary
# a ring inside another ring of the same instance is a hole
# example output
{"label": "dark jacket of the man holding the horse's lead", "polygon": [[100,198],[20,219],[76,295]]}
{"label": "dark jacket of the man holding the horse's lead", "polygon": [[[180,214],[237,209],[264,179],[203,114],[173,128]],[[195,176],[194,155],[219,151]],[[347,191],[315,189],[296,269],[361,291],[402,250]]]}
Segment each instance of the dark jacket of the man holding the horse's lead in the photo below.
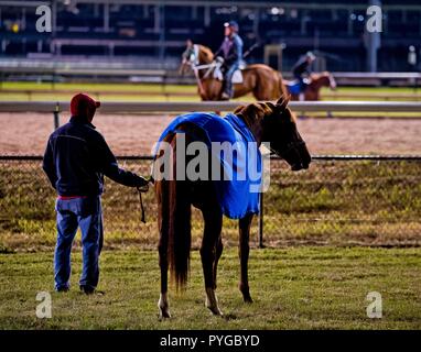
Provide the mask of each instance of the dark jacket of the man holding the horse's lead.
{"label": "dark jacket of the man holding the horse's lead", "polygon": [[86,119],[76,117],[50,136],[43,169],[60,196],[98,196],[104,190],[104,175],[129,187],[147,184],[119,168],[104,136]]}

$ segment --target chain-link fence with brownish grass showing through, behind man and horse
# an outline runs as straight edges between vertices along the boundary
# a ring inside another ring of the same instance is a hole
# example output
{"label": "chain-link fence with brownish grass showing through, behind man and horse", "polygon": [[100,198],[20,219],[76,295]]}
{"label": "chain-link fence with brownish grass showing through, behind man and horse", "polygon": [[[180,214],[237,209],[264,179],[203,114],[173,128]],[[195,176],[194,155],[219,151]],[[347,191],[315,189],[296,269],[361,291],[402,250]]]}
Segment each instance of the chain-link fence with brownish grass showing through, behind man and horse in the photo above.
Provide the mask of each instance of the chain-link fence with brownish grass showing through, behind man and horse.
{"label": "chain-link fence with brownish grass showing through, behind man and horse", "polygon": [[[54,191],[41,168],[41,156],[0,156],[0,239],[54,242]],[[121,166],[150,173],[150,156],[120,156]],[[255,246],[295,244],[421,245],[421,156],[314,155],[309,170],[293,173],[271,162],[271,184],[252,224]],[[144,195],[145,224],[140,222],[132,188],[106,182],[106,244],[158,240],[153,191]],[[193,244],[203,231],[193,211]],[[223,238],[238,241],[237,222],[224,220]],[[22,245],[30,245],[23,242]]]}

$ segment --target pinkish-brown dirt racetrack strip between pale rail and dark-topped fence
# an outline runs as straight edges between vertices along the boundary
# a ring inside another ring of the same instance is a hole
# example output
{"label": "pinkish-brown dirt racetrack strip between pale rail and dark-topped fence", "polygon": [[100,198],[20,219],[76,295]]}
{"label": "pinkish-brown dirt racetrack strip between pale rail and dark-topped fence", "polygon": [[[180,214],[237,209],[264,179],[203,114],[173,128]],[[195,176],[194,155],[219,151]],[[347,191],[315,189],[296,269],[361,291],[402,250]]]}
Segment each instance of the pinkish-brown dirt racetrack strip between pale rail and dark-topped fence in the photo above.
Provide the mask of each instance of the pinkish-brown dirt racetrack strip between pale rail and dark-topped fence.
{"label": "pinkish-brown dirt racetrack strip between pale rail and dark-topped fence", "polygon": [[[94,124],[115,154],[141,155],[174,116],[98,113]],[[62,123],[67,120],[61,116]],[[312,154],[421,154],[421,119],[299,119],[298,124]],[[52,131],[52,114],[0,113],[0,154],[42,155]]]}

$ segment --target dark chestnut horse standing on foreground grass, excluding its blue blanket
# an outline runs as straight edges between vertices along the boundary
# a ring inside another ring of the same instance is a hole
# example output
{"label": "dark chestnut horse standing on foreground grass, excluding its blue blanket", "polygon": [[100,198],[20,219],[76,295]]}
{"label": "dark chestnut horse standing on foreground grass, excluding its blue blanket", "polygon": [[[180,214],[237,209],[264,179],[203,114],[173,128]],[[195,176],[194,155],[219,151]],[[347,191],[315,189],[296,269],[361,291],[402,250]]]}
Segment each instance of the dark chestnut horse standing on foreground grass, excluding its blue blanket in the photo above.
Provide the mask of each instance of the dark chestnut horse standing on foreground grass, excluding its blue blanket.
{"label": "dark chestnut horse standing on foreground grass, excluding its blue blanket", "polygon": [[[281,98],[277,103],[255,102],[248,106],[240,106],[234,113],[245,122],[258,145],[270,142],[270,145],[268,144],[270,150],[290,164],[292,170],[307,168],[311,156],[296,129],[295,118],[287,105],[288,101]],[[172,153],[176,151],[177,135],[180,133],[185,135],[185,144],[183,143],[185,150],[187,150],[190,143],[197,143],[197,141],[203,141],[204,139],[204,132],[199,128],[182,123],[175,132],[169,133],[162,140],[166,142],[166,145],[171,146]],[[182,144],[179,147],[181,148]],[[182,152],[182,155],[185,160],[188,160],[185,150]],[[176,157],[171,158],[172,173],[176,169],[177,158],[180,157],[179,152],[176,154],[173,153],[173,155],[176,155]],[[184,170],[186,169],[187,163],[185,161],[179,164],[183,165],[181,167]],[[162,169],[160,166],[156,166],[155,162],[154,175],[156,175],[156,172],[162,173]],[[209,169],[207,173],[210,173]],[[205,222],[199,253],[205,278],[206,307],[214,315],[220,316],[223,314],[215,295],[215,289],[217,265],[223,253],[223,211],[215,195],[215,185],[210,178],[198,180],[158,178],[154,176],[154,189],[158,200],[158,226],[160,231],[161,295],[158,302],[160,317],[171,317],[168,298],[169,268],[177,289],[185,287],[187,280],[192,205],[202,211]],[[241,267],[239,289],[246,302],[252,301],[248,284],[249,237],[252,217],[252,213],[248,213],[239,219],[239,258]]]}

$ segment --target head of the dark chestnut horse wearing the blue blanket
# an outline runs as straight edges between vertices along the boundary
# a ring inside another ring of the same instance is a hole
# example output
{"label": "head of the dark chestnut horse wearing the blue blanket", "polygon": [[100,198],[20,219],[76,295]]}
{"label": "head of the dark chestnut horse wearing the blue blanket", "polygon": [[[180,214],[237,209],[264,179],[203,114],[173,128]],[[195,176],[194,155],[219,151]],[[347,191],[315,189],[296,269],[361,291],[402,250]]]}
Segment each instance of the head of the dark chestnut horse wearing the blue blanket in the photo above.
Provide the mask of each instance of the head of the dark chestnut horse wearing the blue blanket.
{"label": "head of the dark chestnut horse wearing the blue blanket", "polygon": [[259,129],[255,129],[255,136],[260,134],[260,141],[290,164],[292,170],[300,170],[309,168],[311,155],[288,102],[281,97],[276,103],[256,102],[238,107],[234,113],[241,114],[248,125],[252,125],[250,120],[257,121]]}

